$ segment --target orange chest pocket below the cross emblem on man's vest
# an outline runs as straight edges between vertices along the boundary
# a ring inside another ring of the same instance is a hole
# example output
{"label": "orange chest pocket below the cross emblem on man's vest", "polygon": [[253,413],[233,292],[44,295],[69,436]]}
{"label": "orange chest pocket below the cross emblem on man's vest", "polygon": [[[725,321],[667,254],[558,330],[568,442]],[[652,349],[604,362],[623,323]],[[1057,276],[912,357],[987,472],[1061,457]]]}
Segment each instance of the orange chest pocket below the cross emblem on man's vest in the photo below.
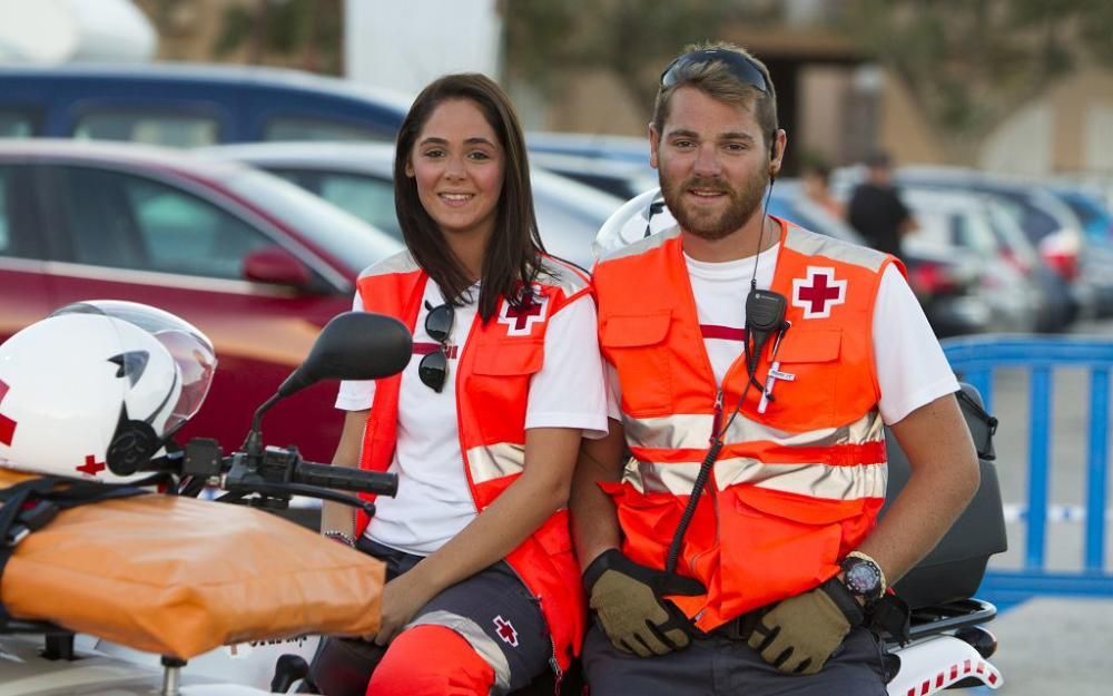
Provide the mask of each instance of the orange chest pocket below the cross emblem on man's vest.
{"label": "orange chest pocket below the cross emblem on man's vest", "polygon": [[[839,329],[790,329],[777,351],[780,372],[789,379],[774,379],[772,399],[765,413],[757,412],[761,396],[756,390],[745,410],[751,419],[789,432],[802,432],[836,424],[836,388],[839,379],[854,379],[839,361],[843,331]],[[771,364],[761,362],[758,382],[765,384]],[[869,379],[865,375],[864,379]],[[866,388],[868,385],[864,385]]]}

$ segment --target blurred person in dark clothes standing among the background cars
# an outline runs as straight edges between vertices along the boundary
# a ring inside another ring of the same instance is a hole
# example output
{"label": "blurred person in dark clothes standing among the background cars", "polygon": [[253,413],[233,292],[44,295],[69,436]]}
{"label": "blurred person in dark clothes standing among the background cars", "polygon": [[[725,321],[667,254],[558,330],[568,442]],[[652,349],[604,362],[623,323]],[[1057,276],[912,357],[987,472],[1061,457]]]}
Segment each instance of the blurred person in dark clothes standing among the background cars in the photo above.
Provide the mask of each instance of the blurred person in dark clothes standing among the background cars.
{"label": "blurred person in dark clothes standing among the background cars", "polygon": [[847,222],[878,252],[904,258],[902,241],[916,229],[916,218],[900,200],[893,184],[893,161],[887,153],[866,158],[866,180],[850,194]]}

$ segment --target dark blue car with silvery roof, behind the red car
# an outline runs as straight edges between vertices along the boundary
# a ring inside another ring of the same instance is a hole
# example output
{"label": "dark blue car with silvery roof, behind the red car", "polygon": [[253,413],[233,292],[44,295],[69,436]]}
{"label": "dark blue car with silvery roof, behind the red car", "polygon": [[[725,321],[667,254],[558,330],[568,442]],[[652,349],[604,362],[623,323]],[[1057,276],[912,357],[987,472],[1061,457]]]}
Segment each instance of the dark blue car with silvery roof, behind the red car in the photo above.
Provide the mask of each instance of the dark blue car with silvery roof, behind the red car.
{"label": "dark blue car with silvery roof, behind the red car", "polygon": [[193,147],[393,140],[410,98],[297,70],[144,63],[0,67],[0,137]]}

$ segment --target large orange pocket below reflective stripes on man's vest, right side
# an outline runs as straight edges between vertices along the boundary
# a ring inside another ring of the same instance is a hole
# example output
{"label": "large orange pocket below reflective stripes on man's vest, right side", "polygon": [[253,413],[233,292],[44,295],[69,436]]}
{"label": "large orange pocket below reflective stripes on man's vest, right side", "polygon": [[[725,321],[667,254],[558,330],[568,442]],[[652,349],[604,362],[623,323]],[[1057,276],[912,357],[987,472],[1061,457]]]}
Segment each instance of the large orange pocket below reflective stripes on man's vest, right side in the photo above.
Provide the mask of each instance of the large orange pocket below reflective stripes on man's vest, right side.
{"label": "large orange pocket below reflective stripes on man's vest, right side", "polygon": [[859,500],[807,498],[755,486],[720,496],[721,595],[725,607],[749,609],[809,590],[838,571],[844,521]]}

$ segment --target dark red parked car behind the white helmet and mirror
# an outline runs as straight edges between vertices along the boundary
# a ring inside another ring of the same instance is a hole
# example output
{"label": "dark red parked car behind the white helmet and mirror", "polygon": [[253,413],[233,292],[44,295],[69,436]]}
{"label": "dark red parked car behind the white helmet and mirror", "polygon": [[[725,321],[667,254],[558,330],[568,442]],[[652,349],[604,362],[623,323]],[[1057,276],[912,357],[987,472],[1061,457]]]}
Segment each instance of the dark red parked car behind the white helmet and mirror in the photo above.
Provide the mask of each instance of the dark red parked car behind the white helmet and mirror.
{"label": "dark red parked car behind the white helmet and mirror", "polygon": [[[188,434],[242,444],[254,409],[348,310],[388,234],[277,177],[178,150],[0,141],[0,341],[61,305],[130,300],[208,334],[220,357]],[[327,461],[335,385],[267,414],[273,444]],[[59,433],[63,437],[65,433]]]}

